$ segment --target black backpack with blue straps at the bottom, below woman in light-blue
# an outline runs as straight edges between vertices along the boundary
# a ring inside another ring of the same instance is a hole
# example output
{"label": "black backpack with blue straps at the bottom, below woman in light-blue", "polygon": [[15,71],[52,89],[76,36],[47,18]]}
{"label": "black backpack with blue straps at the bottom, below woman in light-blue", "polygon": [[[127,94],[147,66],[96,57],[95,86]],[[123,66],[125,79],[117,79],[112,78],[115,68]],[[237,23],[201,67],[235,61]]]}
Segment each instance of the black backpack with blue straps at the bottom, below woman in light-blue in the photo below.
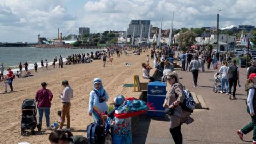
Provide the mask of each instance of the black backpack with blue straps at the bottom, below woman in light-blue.
{"label": "black backpack with blue straps at the bottom, below woman in light-blue", "polygon": [[97,123],[91,123],[87,126],[87,140],[90,144],[104,144],[104,127]]}

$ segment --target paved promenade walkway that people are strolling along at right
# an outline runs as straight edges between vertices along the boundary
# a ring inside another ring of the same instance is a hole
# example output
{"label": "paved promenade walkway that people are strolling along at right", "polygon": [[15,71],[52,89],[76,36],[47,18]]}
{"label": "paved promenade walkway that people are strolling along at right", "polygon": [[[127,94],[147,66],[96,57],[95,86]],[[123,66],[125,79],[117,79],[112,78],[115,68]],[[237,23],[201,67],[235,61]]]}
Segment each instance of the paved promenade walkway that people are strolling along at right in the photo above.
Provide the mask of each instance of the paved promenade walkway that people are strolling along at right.
{"label": "paved promenade walkway that people are strolling along at right", "polygon": [[[252,132],[244,135],[244,141],[241,141],[236,134],[237,129],[250,122],[245,104],[247,95],[244,91],[246,69],[239,68],[239,70],[241,87],[237,86],[237,100],[230,100],[226,94],[213,92],[214,74],[218,72],[217,70],[199,73],[200,87],[193,87],[191,73],[177,70],[179,77],[182,77],[180,82],[190,91],[202,95],[209,107],[209,110],[195,110],[191,115],[195,121],[189,125],[182,125],[184,143],[251,143]],[[169,122],[143,116],[141,119],[143,121],[138,125],[138,133],[134,137],[135,143],[173,143],[168,128]]]}

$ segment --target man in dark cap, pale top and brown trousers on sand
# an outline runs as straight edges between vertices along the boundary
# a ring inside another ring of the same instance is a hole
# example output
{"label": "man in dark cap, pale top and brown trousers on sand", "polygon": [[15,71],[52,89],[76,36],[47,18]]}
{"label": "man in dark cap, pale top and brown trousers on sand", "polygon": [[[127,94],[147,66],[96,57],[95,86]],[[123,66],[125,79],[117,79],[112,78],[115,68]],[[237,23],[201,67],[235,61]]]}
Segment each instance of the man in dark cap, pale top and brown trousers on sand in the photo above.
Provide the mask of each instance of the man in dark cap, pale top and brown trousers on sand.
{"label": "man in dark cap, pale top and brown trousers on sand", "polygon": [[70,128],[70,107],[71,107],[71,103],[70,103],[70,99],[73,98],[73,90],[72,88],[69,86],[68,81],[64,80],[62,81],[62,85],[65,87],[63,93],[61,93],[59,95],[59,97],[62,100],[63,103],[63,107],[61,110],[61,123],[60,123],[60,127],[59,129],[62,129],[64,122],[65,122],[65,117],[67,117],[67,129]]}

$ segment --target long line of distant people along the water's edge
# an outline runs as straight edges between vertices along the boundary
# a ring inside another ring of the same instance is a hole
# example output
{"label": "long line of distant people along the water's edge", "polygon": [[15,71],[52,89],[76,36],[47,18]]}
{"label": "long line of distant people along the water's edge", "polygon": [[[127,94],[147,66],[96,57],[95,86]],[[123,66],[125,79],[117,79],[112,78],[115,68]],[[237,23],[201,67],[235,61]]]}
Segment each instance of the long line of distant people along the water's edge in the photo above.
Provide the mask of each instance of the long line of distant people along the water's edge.
{"label": "long line of distant people along the water's edge", "polygon": [[[74,65],[74,64],[84,64],[84,63],[92,63],[93,60],[99,60],[99,59],[103,59],[103,67],[105,67],[106,65],[106,61],[107,58],[109,58],[110,61],[110,65],[112,65],[113,62],[113,54],[117,54],[117,57],[120,57],[120,55],[123,53],[122,50],[125,52],[125,54],[127,55],[127,50],[125,48],[112,48],[112,47],[107,47],[105,50],[102,51],[96,51],[89,53],[79,53],[79,54],[72,54],[72,55],[68,55],[68,57],[66,58],[66,60],[64,60],[62,58],[62,56],[60,55],[59,58],[57,58],[57,56],[53,59],[52,62],[52,68],[55,69],[57,66],[59,66],[59,68],[63,68],[64,65]],[[46,59],[45,61],[41,60],[40,62],[41,68],[45,68],[46,70],[50,70],[49,67],[49,61]],[[10,93],[13,92],[13,86],[12,83],[15,79],[15,77],[17,78],[27,78],[27,77],[31,77],[34,76],[32,74],[32,71],[29,70],[28,68],[29,63],[26,61],[23,65],[20,62],[18,67],[19,69],[16,71],[16,73],[13,73],[14,71],[12,71],[10,68],[7,69],[8,73],[6,76],[4,76],[4,64],[2,63],[0,65],[0,82],[3,81],[4,84],[4,93]],[[37,73],[38,71],[38,63],[34,63],[34,70],[35,73]],[[23,72],[23,74],[22,74]],[[7,88],[8,86],[10,86],[10,92],[8,92]],[[1,90],[0,90],[1,93]]]}

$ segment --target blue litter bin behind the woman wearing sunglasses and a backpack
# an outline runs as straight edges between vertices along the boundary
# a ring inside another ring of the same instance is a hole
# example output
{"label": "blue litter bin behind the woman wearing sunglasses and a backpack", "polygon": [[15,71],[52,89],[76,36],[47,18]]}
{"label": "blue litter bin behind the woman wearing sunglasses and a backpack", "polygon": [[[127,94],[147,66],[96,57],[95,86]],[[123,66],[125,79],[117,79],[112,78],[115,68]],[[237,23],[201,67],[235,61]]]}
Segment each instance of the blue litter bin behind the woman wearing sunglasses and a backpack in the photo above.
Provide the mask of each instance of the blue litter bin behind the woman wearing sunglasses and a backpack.
{"label": "blue litter bin behind the woman wearing sunglasses and a backpack", "polygon": [[152,103],[155,110],[149,110],[148,116],[165,116],[163,103],[166,95],[166,84],[156,81],[148,84],[147,102]]}

